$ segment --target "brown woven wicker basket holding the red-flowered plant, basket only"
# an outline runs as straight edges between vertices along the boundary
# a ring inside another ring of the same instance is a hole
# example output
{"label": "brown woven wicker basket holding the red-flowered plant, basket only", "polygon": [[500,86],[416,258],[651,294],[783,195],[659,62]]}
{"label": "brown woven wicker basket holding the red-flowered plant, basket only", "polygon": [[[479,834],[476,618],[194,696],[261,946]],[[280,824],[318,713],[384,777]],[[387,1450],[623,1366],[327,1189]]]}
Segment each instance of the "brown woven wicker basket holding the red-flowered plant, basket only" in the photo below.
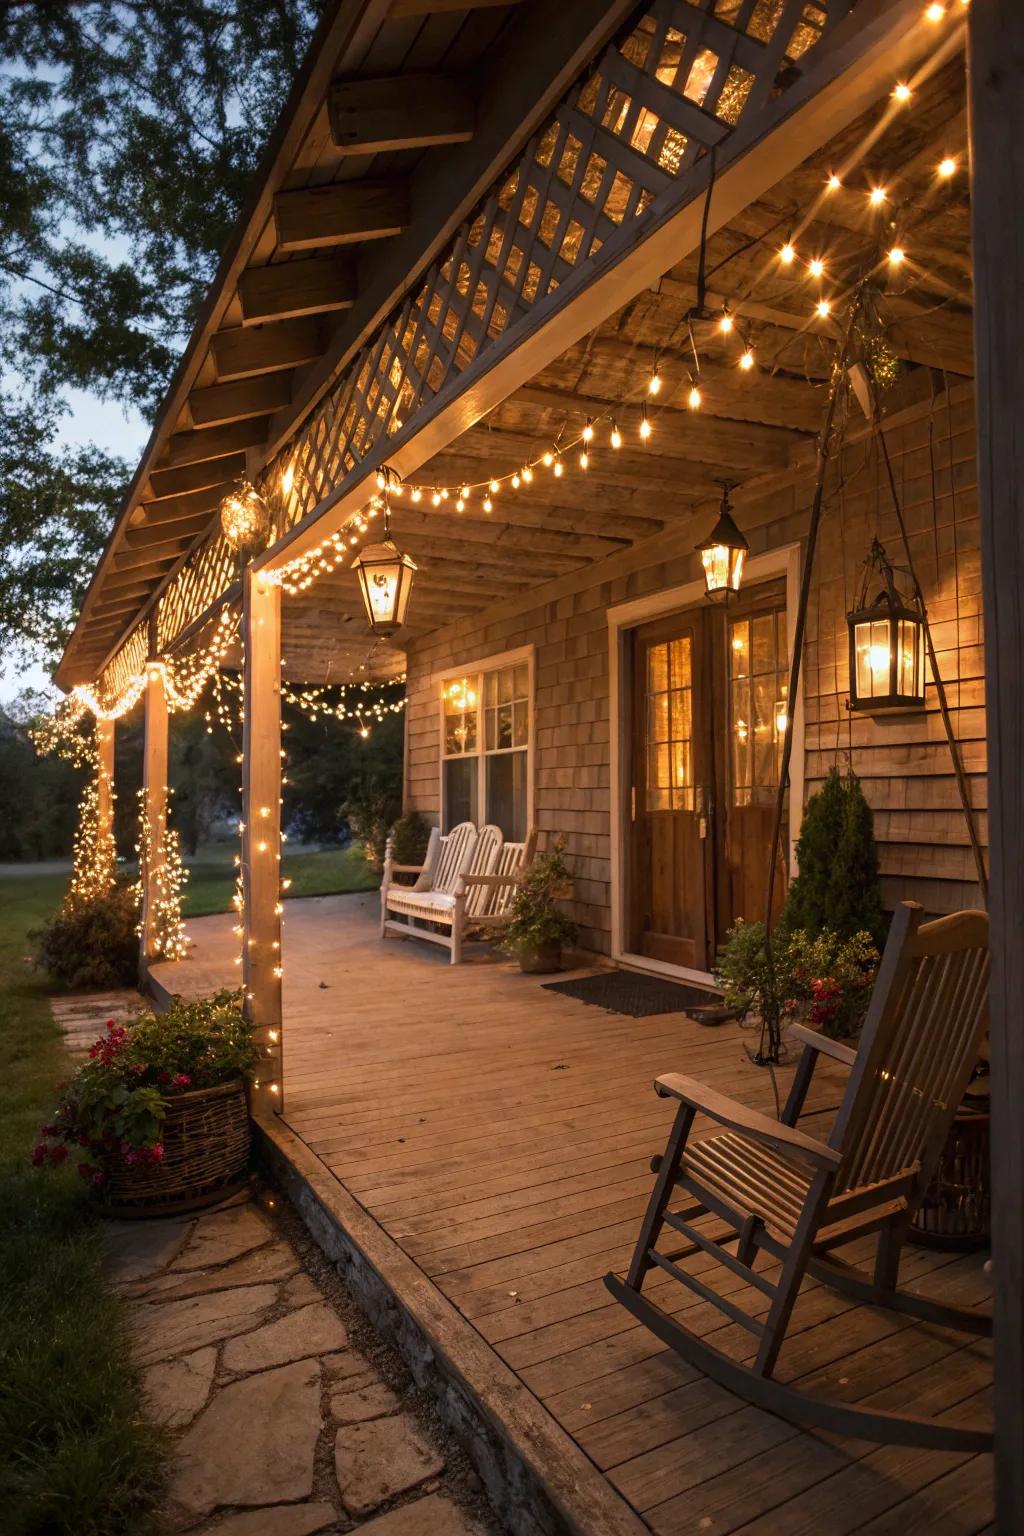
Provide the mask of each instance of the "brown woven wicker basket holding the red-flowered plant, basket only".
{"label": "brown woven wicker basket holding the red-flowered plant, basket only", "polygon": [[241,1077],[167,1100],[160,1163],[107,1170],[101,1209],[111,1217],[201,1210],[246,1183],[249,1101]]}

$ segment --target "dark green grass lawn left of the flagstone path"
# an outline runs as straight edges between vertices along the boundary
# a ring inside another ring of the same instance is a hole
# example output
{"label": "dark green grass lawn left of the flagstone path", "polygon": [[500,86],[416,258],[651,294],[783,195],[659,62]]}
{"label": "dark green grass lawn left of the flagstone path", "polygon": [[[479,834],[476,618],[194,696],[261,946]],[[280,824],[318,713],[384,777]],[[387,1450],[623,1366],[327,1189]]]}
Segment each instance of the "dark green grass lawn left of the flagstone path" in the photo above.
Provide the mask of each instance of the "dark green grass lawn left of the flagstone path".
{"label": "dark green grass lawn left of the flagstone path", "polygon": [[98,1223],[74,1172],[29,1164],[68,1057],[26,935],[66,879],[0,879],[0,1530],[147,1536],[161,1442],[138,1419]]}

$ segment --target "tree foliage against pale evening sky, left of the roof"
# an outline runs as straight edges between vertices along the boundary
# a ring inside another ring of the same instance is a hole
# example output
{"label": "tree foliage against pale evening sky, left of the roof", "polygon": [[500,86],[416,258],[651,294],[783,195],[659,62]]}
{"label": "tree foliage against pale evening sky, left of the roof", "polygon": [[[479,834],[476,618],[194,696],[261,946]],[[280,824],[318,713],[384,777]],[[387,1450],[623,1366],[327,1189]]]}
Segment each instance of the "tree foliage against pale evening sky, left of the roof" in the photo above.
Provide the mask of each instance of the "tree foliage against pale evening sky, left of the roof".
{"label": "tree foliage against pale evening sky, left of the roof", "polygon": [[55,657],[129,465],[68,389],[150,416],[321,0],[0,5],[0,648]]}

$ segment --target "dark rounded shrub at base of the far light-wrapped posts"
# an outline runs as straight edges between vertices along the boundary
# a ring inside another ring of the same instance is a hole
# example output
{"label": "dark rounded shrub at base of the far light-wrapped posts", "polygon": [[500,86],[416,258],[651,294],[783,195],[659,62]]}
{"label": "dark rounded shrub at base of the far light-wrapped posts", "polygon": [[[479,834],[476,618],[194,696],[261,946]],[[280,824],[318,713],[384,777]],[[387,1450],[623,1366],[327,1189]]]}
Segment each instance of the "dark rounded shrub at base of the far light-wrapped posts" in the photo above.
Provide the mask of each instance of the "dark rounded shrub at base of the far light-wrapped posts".
{"label": "dark rounded shrub at base of the far light-wrapped posts", "polygon": [[138,980],[138,886],[117,885],[89,902],[64,903],[32,937],[45,971],[72,991]]}

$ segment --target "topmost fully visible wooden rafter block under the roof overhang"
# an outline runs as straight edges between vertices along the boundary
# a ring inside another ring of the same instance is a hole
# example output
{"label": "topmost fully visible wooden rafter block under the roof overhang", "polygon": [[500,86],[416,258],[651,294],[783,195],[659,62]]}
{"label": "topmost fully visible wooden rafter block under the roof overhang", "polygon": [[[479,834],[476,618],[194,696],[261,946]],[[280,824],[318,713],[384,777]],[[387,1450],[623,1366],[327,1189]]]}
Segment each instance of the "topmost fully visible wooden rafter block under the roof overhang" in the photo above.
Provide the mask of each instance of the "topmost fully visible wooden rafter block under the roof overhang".
{"label": "topmost fully visible wooden rafter block under the roof overhang", "polygon": [[451,75],[335,80],[327,112],[342,155],[464,144],[476,126],[473,97]]}

